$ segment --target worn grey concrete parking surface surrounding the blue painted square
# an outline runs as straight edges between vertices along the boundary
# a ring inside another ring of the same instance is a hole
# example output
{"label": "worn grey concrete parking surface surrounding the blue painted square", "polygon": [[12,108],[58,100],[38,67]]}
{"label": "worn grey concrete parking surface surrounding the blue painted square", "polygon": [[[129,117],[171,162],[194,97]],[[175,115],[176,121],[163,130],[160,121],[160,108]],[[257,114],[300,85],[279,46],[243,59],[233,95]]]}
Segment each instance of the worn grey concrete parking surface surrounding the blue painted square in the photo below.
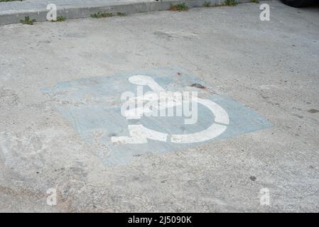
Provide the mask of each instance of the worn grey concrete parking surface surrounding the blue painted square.
{"label": "worn grey concrete parking surface surrounding the blue painted square", "polygon": [[[0,211],[318,212],[319,8],[267,4],[1,26]],[[273,127],[105,167],[40,92],[172,65]]]}

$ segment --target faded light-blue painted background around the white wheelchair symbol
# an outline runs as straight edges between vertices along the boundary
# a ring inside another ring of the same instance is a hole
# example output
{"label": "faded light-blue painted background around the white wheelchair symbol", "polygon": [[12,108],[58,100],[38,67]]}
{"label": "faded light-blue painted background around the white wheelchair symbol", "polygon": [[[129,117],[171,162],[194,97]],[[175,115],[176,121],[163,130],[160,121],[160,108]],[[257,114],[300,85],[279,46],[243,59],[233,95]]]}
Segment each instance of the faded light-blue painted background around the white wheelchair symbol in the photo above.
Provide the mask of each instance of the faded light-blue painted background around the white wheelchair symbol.
{"label": "faded light-blue painted background around the white wheelchair symbol", "polygon": [[[198,77],[180,68],[164,68],[147,71],[117,74],[109,77],[89,77],[87,79],[60,82],[53,88],[42,89],[64,118],[72,125],[90,146],[96,149],[104,165],[118,165],[129,162],[145,153],[166,153],[180,148],[211,143],[171,143],[148,140],[142,144],[113,144],[112,136],[128,136],[128,126],[142,124],[153,131],[167,133],[196,133],[212,124],[214,115],[205,106],[198,106],[198,121],[193,125],[184,125],[183,117],[143,117],[126,120],[121,115],[121,94],[126,91],[136,94],[136,85],[129,77],[143,74],[152,77],[167,91],[184,91],[191,84],[203,84]],[[229,116],[229,125],[224,133],[212,140],[225,139],[242,133],[250,133],[271,127],[271,123],[258,116],[254,111],[242,106],[222,94],[216,94],[210,87],[198,89],[200,97],[210,99],[222,106]],[[149,89],[144,88],[144,92]]]}

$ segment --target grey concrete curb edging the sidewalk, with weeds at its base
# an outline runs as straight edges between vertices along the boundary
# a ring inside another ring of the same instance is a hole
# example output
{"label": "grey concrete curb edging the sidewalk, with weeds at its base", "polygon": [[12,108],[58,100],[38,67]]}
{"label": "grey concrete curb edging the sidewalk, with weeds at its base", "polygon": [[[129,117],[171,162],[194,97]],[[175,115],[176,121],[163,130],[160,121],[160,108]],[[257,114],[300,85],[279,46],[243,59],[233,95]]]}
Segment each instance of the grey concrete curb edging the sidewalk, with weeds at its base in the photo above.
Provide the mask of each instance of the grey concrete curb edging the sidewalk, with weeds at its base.
{"label": "grey concrete curb edging the sidewalk, with weeds at its base", "polygon": [[[143,1],[136,3],[122,3],[122,4],[112,4],[105,3],[105,6],[58,6],[57,5],[57,15],[63,16],[66,19],[75,18],[87,18],[91,14],[97,12],[105,13],[144,13],[149,11],[163,11],[170,9],[171,5],[185,3],[189,8],[200,7],[207,0],[160,0],[160,1]],[[222,3],[223,0],[211,0],[210,4]],[[250,0],[239,0],[239,3],[247,3]],[[43,7],[43,6],[41,6]],[[46,9],[35,9],[35,10],[16,10],[16,11],[0,11],[0,25],[6,25],[11,23],[20,23],[20,20],[29,16],[32,19],[36,19],[37,22],[47,21],[46,15],[48,11]]]}

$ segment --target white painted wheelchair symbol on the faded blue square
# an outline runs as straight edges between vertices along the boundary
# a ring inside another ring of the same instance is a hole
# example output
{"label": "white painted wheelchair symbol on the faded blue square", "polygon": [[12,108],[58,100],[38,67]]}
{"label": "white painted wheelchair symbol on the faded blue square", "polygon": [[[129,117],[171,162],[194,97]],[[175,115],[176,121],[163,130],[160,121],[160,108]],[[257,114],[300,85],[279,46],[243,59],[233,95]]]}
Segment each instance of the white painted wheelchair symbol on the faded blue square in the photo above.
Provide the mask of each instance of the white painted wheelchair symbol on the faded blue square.
{"label": "white painted wheelchair symbol on the faded blue square", "polygon": [[[129,77],[129,82],[136,85],[148,86],[153,92],[166,91],[156,83],[153,78],[148,76],[131,76]],[[129,125],[129,136],[112,136],[112,143],[141,144],[148,143],[148,139],[168,142],[169,137],[171,138],[171,143],[199,143],[211,140],[224,133],[229,125],[229,116],[225,109],[210,99],[200,99],[198,97],[197,101],[199,104],[207,107],[215,116],[215,119],[212,119],[212,124],[203,131],[190,134],[171,134],[171,136],[169,136],[168,133],[154,131],[150,128],[146,128],[142,124]],[[126,118],[129,119],[129,114]]]}

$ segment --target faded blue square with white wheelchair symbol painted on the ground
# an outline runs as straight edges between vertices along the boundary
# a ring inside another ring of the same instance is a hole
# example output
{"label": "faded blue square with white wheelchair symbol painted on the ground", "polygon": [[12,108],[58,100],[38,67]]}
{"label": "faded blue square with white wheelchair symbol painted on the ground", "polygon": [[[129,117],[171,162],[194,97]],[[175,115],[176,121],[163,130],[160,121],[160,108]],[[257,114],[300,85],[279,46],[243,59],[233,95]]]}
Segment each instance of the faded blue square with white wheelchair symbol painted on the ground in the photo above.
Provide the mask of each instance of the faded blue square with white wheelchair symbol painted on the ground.
{"label": "faded blue square with white wheelchair symbol painted on the ground", "polygon": [[[144,75],[148,81],[133,77],[136,75]],[[146,92],[198,92],[197,121],[187,124],[190,119],[184,116],[126,118],[121,114],[121,94],[137,94],[137,84]],[[205,84],[207,89],[191,84]],[[266,118],[216,94],[198,77],[178,67],[77,79],[42,91],[104,165],[123,165],[146,153],[167,153],[271,127]]]}

